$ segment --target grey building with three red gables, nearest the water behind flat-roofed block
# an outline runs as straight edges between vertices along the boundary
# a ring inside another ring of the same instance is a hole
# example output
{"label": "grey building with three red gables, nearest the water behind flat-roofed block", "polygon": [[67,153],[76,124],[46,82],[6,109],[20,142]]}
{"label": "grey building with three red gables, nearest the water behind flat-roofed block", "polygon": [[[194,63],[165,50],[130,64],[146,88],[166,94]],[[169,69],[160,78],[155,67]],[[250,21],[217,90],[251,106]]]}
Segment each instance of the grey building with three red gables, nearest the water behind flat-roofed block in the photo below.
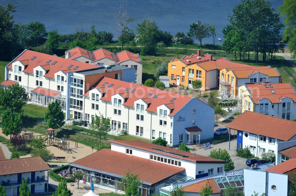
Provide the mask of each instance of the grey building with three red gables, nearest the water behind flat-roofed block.
{"label": "grey building with three red gables, nearest the water behind flat-roofed block", "polygon": [[75,47],[65,51],[65,58],[99,66],[116,64],[124,67],[134,67],[136,70],[135,83],[142,84],[142,61],[139,54],[127,50],[113,53],[104,48],[89,51],[81,47]]}

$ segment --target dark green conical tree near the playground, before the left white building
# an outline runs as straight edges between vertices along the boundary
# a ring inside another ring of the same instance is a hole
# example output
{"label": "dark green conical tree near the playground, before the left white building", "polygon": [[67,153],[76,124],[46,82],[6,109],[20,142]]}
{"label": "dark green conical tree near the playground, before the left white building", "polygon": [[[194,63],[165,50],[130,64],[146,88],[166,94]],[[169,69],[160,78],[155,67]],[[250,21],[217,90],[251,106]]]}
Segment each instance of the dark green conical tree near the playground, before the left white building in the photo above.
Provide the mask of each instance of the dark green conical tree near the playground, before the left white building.
{"label": "dark green conical tree near the playground, before the left white building", "polygon": [[47,128],[58,129],[65,124],[64,113],[59,101],[54,101],[48,104],[48,109],[45,112],[44,121]]}

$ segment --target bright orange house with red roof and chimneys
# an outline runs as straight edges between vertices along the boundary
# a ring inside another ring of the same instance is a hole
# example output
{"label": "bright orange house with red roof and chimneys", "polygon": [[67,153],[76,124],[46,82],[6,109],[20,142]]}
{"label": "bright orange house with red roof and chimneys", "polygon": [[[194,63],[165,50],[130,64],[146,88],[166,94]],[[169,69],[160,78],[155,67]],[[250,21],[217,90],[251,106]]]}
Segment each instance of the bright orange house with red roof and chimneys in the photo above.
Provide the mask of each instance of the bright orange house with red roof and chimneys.
{"label": "bright orange house with red roof and chimneys", "polygon": [[202,90],[219,87],[220,70],[233,67],[253,67],[233,63],[226,58],[214,59],[212,55],[197,54],[184,55],[181,59],[173,58],[168,63],[168,76],[171,85],[183,85],[192,88],[194,80],[202,81]]}

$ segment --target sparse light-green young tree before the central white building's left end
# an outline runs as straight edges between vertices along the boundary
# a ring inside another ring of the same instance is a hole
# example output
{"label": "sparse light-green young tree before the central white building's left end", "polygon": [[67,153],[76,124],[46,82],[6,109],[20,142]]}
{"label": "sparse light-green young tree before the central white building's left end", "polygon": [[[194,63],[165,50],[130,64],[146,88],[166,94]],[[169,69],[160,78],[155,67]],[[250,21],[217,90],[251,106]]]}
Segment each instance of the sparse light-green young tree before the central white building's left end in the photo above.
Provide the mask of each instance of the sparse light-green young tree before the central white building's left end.
{"label": "sparse light-green young tree before the central white building's left end", "polygon": [[110,121],[111,119],[109,117],[104,118],[103,114],[99,113],[99,116],[95,115],[95,117],[92,119],[89,125],[91,134],[93,134],[96,137],[99,137],[100,146],[102,137],[107,135],[111,130]]}

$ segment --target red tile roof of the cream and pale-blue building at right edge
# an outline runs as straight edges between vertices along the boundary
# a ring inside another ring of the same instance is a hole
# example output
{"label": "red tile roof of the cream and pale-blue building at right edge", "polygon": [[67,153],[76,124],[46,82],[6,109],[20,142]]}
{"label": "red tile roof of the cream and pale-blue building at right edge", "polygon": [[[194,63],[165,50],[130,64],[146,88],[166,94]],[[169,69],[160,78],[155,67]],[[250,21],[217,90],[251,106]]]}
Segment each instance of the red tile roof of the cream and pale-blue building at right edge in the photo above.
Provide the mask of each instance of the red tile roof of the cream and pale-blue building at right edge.
{"label": "red tile roof of the cream and pale-blue building at right edge", "polygon": [[[270,100],[271,103],[281,103],[281,99],[285,97],[291,98],[293,102],[296,102],[296,91],[290,83],[255,83],[246,84],[246,86],[255,104],[258,104],[258,101],[263,98]],[[271,93],[271,90],[274,90],[275,93]]]}

